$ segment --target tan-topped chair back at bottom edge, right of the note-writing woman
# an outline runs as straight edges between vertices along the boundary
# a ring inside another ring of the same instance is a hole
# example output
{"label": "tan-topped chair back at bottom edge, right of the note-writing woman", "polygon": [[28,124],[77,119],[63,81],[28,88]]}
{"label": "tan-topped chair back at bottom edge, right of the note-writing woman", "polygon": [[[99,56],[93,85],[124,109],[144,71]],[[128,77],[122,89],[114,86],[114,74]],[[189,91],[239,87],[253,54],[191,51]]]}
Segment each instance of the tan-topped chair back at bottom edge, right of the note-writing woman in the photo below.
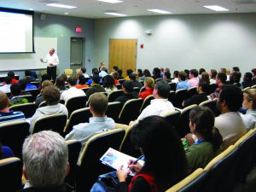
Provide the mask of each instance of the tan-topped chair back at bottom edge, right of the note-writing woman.
{"label": "tan-topped chair back at bottom edge, right of the note-writing woman", "polygon": [[172,188],[167,189],[166,192],[196,192],[200,191],[201,185],[207,178],[207,172],[202,168],[198,168],[195,172],[189,174],[188,177],[183,178],[180,182],[173,185]]}

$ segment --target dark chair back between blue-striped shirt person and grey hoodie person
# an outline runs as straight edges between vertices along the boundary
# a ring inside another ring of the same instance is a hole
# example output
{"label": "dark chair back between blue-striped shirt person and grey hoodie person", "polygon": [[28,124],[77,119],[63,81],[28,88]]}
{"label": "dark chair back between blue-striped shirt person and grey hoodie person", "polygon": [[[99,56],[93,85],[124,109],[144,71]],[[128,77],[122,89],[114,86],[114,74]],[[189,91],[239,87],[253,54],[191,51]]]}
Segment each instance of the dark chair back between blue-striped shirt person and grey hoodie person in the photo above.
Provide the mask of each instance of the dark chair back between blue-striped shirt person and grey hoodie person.
{"label": "dark chair back between blue-striped shirt person and grey hoodie person", "polygon": [[24,113],[26,118],[31,118],[34,115],[34,113],[36,113],[37,105],[33,102],[28,102],[24,104],[11,106],[9,107],[9,110],[21,111],[22,113]]}

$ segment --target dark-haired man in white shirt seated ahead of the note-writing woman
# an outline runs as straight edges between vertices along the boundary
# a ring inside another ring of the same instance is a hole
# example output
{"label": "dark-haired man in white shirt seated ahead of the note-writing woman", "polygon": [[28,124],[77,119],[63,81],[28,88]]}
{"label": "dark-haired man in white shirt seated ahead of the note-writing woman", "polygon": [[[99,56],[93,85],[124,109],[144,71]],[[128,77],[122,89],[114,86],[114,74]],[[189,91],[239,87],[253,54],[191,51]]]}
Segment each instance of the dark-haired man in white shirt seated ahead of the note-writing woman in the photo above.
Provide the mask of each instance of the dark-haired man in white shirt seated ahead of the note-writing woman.
{"label": "dark-haired man in white shirt seated ahead of the note-writing woman", "polygon": [[129,125],[135,124],[138,120],[151,115],[163,115],[175,111],[172,102],[168,101],[168,95],[171,88],[165,80],[157,81],[153,90],[154,100],[151,100],[150,105],[144,108],[143,112],[138,116],[136,121],[131,121]]}

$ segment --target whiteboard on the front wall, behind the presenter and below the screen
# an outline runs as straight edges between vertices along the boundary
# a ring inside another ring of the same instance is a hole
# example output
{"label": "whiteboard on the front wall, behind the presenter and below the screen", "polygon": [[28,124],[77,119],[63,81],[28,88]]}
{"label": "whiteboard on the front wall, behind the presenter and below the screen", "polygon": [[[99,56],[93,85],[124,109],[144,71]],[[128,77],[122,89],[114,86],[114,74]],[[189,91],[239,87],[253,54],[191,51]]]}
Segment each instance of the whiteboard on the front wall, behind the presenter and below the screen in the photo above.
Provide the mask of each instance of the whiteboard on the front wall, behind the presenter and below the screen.
{"label": "whiteboard on the front wall, behind the presenter and below the screen", "polygon": [[57,54],[57,38],[34,37],[35,53],[29,54],[0,54],[0,71],[44,69],[47,64],[40,61],[49,53],[49,49],[55,49]]}

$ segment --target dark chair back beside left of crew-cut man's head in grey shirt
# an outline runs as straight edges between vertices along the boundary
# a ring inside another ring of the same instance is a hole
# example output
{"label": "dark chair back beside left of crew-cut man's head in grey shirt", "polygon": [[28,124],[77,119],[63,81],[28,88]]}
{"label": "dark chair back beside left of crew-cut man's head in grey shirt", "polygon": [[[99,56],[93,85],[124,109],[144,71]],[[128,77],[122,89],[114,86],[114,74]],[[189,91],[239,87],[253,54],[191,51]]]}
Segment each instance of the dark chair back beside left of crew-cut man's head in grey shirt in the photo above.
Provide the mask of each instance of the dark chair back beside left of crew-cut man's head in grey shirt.
{"label": "dark chair back beside left of crew-cut man's head in grey shirt", "polygon": [[89,108],[79,108],[73,111],[73,113],[70,114],[70,118],[64,128],[64,135],[67,135],[70,131],[72,131],[74,125],[89,122],[91,116],[92,114],[90,113]]}

